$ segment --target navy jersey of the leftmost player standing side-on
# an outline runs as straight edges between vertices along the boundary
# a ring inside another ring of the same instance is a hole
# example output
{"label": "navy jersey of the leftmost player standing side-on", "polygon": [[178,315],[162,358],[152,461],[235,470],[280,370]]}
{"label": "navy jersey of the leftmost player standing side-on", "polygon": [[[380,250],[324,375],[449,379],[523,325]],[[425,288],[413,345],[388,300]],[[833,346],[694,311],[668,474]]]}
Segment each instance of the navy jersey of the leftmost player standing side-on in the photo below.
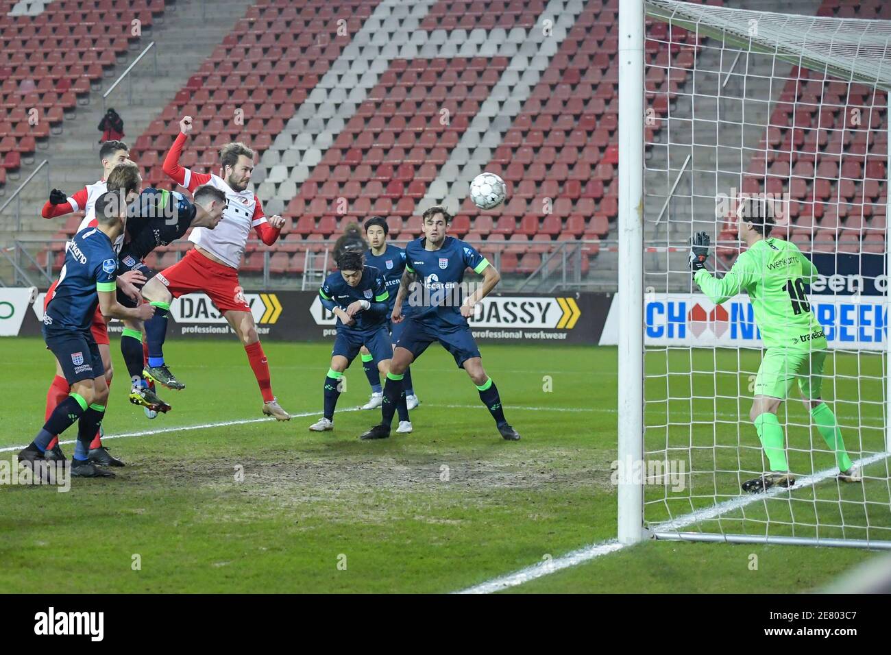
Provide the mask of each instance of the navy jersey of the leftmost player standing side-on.
{"label": "navy jersey of the leftmost player standing side-on", "polygon": [[96,291],[115,291],[117,272],[118,255],[105,233],[87,227],[75,234],[65,252],[53,298],[46,306],[45,325],[88,330],[99,302]]}

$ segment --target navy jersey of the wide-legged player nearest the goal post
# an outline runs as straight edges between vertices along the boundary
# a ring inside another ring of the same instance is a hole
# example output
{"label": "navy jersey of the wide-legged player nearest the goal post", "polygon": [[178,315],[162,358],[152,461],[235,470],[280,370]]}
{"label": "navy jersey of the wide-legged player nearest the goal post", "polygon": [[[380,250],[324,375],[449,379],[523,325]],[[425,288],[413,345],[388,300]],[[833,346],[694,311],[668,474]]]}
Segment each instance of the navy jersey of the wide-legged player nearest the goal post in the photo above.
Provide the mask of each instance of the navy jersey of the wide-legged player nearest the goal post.
{"label": "navy jersey of the wide-legged player nearest the goal post", "polygon": [[[410,289],[405,304],[412,316],[424,322],[467,325],[461,315],[463,301],[461,282],[464,271],[472,268],[482,273],[489,261],[470,243],[447,236],[439,250],[424,250],[425,237],[405,246],[405,268],[417,274],[419,290]],[[420,297],[419,297],[420,296]]]}

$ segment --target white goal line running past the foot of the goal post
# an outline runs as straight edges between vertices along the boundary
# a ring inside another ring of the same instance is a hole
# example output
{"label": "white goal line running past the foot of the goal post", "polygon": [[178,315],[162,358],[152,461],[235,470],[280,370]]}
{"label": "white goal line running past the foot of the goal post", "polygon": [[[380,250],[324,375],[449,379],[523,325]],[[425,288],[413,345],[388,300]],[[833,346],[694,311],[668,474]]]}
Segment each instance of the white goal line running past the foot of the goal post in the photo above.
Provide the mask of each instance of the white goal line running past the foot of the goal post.
{"label": "white goal line running past the foot of the goal post", "polygon": [[[864,457],[854,462],[854,464],[861,467],[866,466],[867,464],[879,462],[879,460],[885,459],[888,455],[889,453],[872,454],[869,457]],[[715,517],[721,516],[722,514],[725,514],[727,512],[740,510],[747,505],[763,501],[766,497],[780,495],[785,492],[797,491],[798,489],[804,489],[806,487],[813,487],[818,482],[822,482],[822,480],[824,479],[834,478],[837,475],[838,467],[827,469],[826,471],[820,471],[819,473],[813,473],[813,475],[797,479],[795,485],[789,487],[788,489],[783,487],[774,487],[766,491],[764,494],[753,494],[740,496],[739,498],[732,498],[730,500],[724,501],[723,503],[715,504],[705,510],[697,510],[696,512],[691,512],[689,514],[679,516],[674,520],[667,520],[663,523],[658,523],[656,525],[650,526],[650,530],[653,532],[665,532],[666,530],[674,531],[681,528],[687,528],[694,523],[699,523],[699,521],[714,519]],[[568,569],[569,567],[576,566],[577,564],[591,561],[593,559],[601,557],[601,555],[616,553],[617,551],[620,551],[628,547],[629,545],[632,544],[620,544],[615,539],[609,539],[608,541],[601,542],[600,544],[591,544],[576,551],[572,551],[571,553],[561,555],[560,557],[553,560],[541,561],[532,566],[528,566],[525,569],[519,569],[519,571],[515,571],[504,576],[495,577],[491,580],[488,580],[487,582],[455,592],[455,594],[493,594],[495,592],[503,591],[504,589],[509,589],[512,586],[523,585],[530,580],[535,580],[538,577],[544,577],[556,571]]]}

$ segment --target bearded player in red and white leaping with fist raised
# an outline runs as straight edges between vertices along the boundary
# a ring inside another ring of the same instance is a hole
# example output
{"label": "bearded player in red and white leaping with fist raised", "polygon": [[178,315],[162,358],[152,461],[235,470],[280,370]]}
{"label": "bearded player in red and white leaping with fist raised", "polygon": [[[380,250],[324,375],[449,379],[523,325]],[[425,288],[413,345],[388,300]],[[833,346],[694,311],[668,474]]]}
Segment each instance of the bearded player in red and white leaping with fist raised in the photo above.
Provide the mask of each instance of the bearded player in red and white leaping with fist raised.
{"label": "bearded player in red and white leaping with fist raised", "polygon": [[238,269],[241,256],[248,242],[250,228],[260,239],[271,246],[284,225],[280,216],[266,218],[260,201],[249,191],[250,175],[254,169],[254,151],[244,143],[227,143],[220,151],[220,174],[193,173],[179,165],[186,135],[192,131],[192,117],[185,116],[179,122],[180,134],[164,160],[164,172],[189,192],[201,184],[212,184],[225,192],[226,207],[223,220],[213,230],[197,227],[189,240],[195,244],[185,257],[155,275],[143,287],[143,298],[155,306],[154,319],[145,323],[149,342],[149,363],[145,377],[163,384],[169,389],[184,389],[164,363],[163,344],[167,332],[167,315],[170,303],[187,293],[203,292],[208,295],[225,320],[238,334],[248,354],[250,368],[257,378],[263,395],[263,413],[278,421],[289,421],[290,414],[275,399],[269,375],[269,364],[250,307],[244,298]]}

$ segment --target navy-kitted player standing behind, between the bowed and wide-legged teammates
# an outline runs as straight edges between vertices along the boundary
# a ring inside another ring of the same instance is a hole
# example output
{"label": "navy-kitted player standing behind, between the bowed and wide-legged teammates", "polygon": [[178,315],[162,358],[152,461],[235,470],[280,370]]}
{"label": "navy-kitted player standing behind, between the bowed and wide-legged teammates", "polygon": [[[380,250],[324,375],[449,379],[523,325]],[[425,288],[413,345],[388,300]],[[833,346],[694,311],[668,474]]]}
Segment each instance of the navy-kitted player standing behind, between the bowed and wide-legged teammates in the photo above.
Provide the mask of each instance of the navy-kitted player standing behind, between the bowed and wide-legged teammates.
{"label": "navy-kitted player standing behind, between the bowed and wide-legged teammates", "polygon": [[[384,282],[387,284],[389,293],[387,308],[387,324],[390,334],[390,341],[395,344],[402,334],[402,328],[405,322],[392,323],[389,320],[389,313],[393,311],[393,305],[396,303],[396,293],[399,291],[399,282],[402,280],[402,274],[405,271],[405,250],[398,246],[391,245],[387,242],[389,226],[387,219],[380,216],[372,216],[365,221],[365,236],[368,238],[370,248],[365,251],[365,264],[373,266],[383,275]],[[408,307],[405,307],[405,312]],[[374,357],[368,348],[362,347],[362,367],[365,376],[368,378],[369,384],[372,385],[372,397],[368,403],[363,405],[363,409],[376,409],[383,402],[383,389],[380,387],[380,374],[378,366],[374,362]],[[409,411],[418,406],[418,397],[414,395],[412,386],[412,369],[405,369],[405,377],[403,378],[403,386],[405,387],[405,404],[408,405]]]}

